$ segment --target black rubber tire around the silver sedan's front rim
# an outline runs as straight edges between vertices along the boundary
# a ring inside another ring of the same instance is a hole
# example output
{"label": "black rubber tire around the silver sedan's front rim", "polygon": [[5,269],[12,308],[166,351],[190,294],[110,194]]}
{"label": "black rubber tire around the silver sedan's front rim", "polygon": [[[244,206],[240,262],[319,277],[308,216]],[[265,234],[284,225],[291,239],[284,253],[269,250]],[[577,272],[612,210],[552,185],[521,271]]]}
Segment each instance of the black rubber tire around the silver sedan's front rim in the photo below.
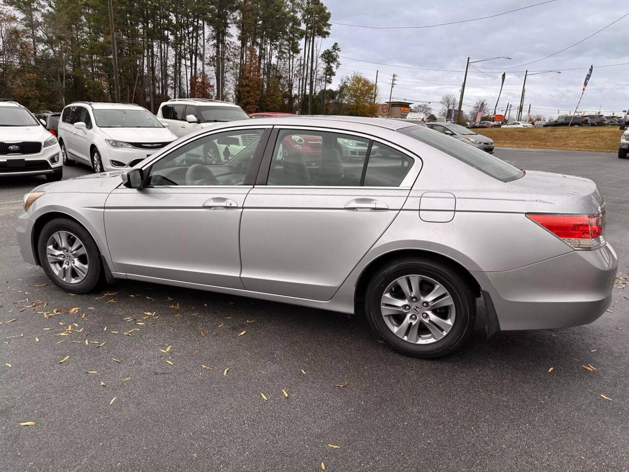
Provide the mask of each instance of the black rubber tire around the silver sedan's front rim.
{"label": "black rubber tire around the silver sedan's front rim", "polygon": [[[83,246],[86,249],[88,262],[87,274],[85,278],[78,283],[65,282],[53,272],[52,267],[50,267],[50,264],[48,264],[48,258],[46,256],[46,244],[53,233],[57,231],[67,231],[76,235],[76,237],[81,240]],[[96,242],[94,242],[94,239],[92,239],[91,235],[84,227],[82,227],[74,220],[70,220],[69,218],[55,218],[54,220],[51,220],[44,225],[37,241],[37,253],[39,255],[39,260],[40,264],[42,264],[43,271],[46,273],[48,278],[56,286],[64,289],[67,292],[87,293],[96,286],[99,279],[101,278],[103,266],[101,264],[101,252],[99,251]]]}

